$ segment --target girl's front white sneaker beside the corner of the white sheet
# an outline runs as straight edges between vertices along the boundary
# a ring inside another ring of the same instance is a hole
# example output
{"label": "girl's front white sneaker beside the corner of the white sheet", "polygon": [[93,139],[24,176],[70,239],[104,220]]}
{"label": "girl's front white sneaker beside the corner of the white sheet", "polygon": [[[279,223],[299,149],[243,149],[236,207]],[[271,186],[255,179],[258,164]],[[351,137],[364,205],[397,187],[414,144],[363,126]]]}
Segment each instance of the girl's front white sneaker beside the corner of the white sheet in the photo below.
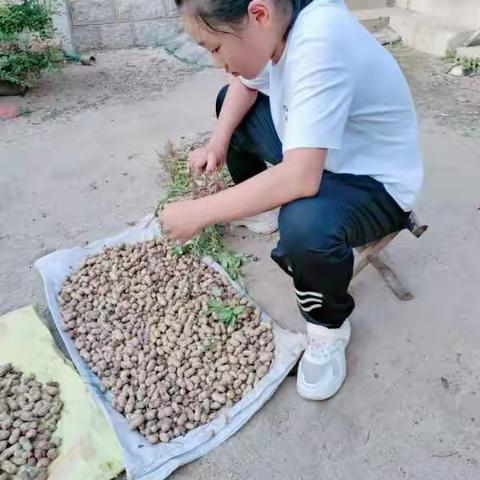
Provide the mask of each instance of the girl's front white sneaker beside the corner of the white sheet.
{"label": "girl's front white sneaker beside the corner of the white sheet", "polygon": [[297,374],[297,391],[308,400],[333,397],[347,375],[345,349],[350,341],[350,321],[337,329],[307,324],[308,345]]}

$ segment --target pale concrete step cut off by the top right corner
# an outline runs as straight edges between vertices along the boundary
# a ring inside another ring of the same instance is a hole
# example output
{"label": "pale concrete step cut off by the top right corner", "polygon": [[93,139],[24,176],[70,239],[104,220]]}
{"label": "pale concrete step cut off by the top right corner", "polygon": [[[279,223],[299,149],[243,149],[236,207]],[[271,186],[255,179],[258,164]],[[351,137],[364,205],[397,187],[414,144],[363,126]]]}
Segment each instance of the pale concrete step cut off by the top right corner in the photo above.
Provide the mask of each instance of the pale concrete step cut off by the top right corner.
{"label": "pale concrete step cut off by the top right corner", "polygon": [[443,19],[447,24],[480,27],[479,0],[397,0],[396,5]]}

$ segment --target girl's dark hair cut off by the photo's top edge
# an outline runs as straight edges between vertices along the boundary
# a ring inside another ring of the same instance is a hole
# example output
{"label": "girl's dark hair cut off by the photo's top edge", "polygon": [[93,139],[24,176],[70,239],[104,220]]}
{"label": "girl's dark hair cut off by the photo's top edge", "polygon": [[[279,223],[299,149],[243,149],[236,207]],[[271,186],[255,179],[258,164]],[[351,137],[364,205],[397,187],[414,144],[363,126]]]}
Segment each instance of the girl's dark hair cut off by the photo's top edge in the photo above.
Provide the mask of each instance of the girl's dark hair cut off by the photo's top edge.
{"label": "girl's dark hair cut off by the photo's top edge", "polygon": [[[248,5],[252,0],[175,0],[177,7],[185,5],[193,7],[194,15],[200,18],[209,28],[215,30],[212,24],[226,24],[238,26],[248,12]],[[298,17],[302,9],[312,0],[274,0],[275,3],[287,9],[292,7],[292,21]]]}

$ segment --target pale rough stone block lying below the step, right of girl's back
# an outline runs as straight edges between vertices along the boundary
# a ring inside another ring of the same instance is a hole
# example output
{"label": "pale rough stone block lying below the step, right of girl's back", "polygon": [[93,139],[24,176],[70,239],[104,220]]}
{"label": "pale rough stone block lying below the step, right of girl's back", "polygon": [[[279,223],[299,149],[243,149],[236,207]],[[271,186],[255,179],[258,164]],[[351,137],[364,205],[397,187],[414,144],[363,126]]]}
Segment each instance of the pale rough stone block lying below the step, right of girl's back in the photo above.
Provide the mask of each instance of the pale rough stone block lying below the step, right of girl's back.
{"label": "pale rough stone block lying below the step, right of girl's back", "polygon": [[439,57],[472,36],[472,30],[464,26],[447,24],[430,15],[398,7],[390,9],[390,27],[409,47]]}

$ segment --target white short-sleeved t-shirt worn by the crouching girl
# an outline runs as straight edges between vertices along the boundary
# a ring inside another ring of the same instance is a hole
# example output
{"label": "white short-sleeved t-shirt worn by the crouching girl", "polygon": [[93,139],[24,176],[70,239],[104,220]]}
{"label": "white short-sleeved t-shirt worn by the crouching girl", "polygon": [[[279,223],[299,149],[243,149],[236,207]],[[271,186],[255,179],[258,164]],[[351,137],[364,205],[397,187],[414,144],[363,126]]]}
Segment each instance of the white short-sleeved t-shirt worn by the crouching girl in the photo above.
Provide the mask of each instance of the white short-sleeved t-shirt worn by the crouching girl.
{"label": "white short-sleeved t-shirt worn by the crouching girl", "polygon": [[269,95],[284,153],[328,149],[327,170],[369,175],[413,208],[423,166],[408,84],[343,0],[305,7],[279,62],[242,81]]}

